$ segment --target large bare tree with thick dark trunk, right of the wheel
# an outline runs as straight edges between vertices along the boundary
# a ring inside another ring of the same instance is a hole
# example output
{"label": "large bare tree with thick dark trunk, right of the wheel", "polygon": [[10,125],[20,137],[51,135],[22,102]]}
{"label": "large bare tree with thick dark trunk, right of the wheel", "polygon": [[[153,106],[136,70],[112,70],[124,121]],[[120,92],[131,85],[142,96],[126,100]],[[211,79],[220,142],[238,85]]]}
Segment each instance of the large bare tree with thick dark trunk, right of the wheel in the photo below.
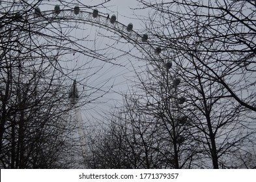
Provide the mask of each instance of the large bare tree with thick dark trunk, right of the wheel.
{"label": "large bare tree with thick dark trunk, right of the wheel", "polygon": [[[173,63],[173,72],[184,83],[183,109],[190,114],[190,125],[198,129],[190,136],[201,143],[199,151],[210,158],[213,168],[229,165],[233,153],[251,148],[249,141],[255,137],[255,5],[251,1],[139,2],[141,8],[154,12],[146,25],[158,44],[156,53]],[[163,66],[161,59],[152,64],[155,69]]]}

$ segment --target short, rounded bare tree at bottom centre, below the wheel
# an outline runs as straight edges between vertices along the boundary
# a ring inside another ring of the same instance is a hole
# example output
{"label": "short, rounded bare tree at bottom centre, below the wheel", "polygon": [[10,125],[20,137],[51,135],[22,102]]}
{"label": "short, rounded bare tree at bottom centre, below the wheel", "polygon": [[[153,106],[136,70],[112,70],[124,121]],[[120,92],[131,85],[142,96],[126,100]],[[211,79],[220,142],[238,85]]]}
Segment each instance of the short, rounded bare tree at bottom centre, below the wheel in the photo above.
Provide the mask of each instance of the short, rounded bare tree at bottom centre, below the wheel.
{"label": "short, rounded bare tree at bottom centre, below the wheel", "polygon": [[[154,130],[135,115],[137,110],[116,110],[106,132],[91,140],[91,168],[158,168]],[[147,127],[146,127],[147,125]]]}

